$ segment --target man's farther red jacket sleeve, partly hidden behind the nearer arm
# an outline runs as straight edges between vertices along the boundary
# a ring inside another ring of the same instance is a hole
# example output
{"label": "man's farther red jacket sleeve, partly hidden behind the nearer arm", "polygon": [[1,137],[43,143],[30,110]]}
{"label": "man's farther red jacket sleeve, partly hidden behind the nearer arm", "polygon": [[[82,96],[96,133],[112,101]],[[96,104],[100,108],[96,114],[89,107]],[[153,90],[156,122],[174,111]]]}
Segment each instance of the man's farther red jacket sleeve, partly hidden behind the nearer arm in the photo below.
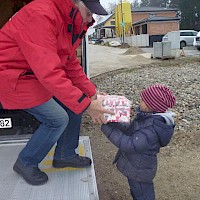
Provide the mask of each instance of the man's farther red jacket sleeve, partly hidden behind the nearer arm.
{"label": "man's farther red jacket sleeve, partly hidden behind the nearer arm", "polygon": [[96,85],[88,79],[75,54],[67,61],[64,70],[67,78],[72,81],[74,86],[79,88],[89,97],[95,95]]}

